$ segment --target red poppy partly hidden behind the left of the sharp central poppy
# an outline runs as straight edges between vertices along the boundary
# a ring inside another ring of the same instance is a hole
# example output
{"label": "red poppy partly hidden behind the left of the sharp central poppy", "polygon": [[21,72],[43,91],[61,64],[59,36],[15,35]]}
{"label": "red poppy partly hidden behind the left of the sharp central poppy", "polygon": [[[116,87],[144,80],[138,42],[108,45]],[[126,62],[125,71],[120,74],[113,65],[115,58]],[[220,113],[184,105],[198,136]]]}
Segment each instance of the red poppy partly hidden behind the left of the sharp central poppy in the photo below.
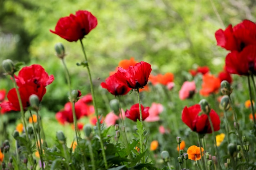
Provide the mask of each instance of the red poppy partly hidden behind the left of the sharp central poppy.
{"label": "red poppy partly hidden behind the left of the sharp central poppy", "polygon": [[126,95],[131,88],[126,86],[125,84],[120,84],[117,81],[115,75],[111,75],[106,79],[106,83],[101,83],[102,88],[106,88],[112,95]]}

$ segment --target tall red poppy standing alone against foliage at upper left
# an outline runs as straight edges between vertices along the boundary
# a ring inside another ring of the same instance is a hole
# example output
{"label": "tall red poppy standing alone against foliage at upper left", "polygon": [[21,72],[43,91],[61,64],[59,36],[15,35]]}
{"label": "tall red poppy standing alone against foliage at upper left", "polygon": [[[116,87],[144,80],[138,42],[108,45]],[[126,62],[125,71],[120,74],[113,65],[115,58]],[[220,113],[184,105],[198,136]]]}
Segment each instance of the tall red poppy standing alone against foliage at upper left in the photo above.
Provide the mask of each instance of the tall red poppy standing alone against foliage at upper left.
{"label": "tall red poppy standing alone against foliage at upper left", "polygon": [[67,41],[77,41],[87,35],[97,26],[97,18],[89,11],[76,11],[68,17],[60,18],[52,33],[59,35]]}

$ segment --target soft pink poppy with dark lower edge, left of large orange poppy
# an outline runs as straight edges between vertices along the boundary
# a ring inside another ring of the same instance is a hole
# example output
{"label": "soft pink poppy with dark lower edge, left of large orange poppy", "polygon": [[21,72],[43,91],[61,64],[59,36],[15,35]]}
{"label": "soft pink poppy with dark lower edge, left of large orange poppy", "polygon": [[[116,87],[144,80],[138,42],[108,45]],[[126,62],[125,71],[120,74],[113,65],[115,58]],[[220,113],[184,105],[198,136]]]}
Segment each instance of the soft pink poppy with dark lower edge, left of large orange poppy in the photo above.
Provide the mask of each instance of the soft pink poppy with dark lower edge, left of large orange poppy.
{"label": "soft pink poppy with dark lower edge, left of large orange poppy", "polygon": [[195,94],[195,82],[184,82],[180,91],[179,91],[179,97],[180,99],[184,100],[184,99],[189,99],[192,98],[193,95]]}

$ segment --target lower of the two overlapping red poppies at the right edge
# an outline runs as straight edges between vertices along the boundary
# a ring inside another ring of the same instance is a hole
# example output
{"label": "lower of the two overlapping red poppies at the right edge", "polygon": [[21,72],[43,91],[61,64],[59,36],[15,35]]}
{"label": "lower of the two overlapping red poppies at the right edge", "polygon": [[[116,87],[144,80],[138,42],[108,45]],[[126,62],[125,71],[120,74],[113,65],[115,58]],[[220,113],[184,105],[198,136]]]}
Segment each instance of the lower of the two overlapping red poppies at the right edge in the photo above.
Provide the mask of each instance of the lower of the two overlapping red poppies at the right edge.
{"label": "lower of the two overlapping red poppies at the right edge", "polygon": [[246,46],[240,53],[232,51],[226,57],[227,72],[238,75],[256,73],[256,45]]}

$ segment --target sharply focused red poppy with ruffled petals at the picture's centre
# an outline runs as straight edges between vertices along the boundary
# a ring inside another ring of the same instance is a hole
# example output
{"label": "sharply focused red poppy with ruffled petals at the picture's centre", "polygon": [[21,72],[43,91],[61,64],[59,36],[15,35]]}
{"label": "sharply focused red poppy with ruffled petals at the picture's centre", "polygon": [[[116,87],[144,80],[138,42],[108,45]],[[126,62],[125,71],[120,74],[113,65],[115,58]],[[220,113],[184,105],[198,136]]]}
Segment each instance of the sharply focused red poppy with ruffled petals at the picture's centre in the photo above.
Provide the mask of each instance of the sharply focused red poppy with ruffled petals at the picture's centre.
{"label": "sharply focused red poppy with ruffled petals at the picture's centre", "polygon": [[128,69],[119,67],[115,77],[117,80],[126,84],[130,88],[143,88],[148,83],[148,77],[152,71],[151,65],[147,62],[136,63],[135,66],[129,66]]}

